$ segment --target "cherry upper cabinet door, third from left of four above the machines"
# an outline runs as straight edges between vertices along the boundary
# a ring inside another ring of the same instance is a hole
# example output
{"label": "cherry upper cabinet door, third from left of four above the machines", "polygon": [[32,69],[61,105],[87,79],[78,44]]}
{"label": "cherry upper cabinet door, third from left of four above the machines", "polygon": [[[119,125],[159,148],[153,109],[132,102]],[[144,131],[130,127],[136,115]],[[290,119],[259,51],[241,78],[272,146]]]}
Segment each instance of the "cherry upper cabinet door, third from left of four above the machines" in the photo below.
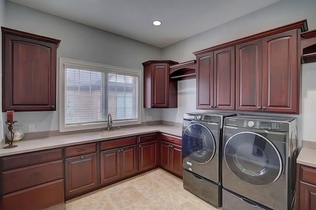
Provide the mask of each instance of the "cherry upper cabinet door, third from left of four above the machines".
{"label": "cherry upper cabinet door, third from left of four above the machines", "polygon": [[262,40],[236,45],[236,110],[261,111]]}

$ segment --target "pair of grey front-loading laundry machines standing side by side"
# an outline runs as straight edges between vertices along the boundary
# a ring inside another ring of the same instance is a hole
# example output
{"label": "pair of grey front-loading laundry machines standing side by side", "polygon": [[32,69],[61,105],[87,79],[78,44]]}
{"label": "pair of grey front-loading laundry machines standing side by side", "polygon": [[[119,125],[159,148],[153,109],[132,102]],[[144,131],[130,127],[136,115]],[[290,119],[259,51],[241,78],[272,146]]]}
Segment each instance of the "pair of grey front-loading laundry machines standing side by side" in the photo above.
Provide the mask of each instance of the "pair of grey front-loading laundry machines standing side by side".
{"label": "pair of grey front-loading laundry machines standing side by side", "polygon": [[291,210],[297,151],[296,118],[186,113],[183,186],[223,210]]}

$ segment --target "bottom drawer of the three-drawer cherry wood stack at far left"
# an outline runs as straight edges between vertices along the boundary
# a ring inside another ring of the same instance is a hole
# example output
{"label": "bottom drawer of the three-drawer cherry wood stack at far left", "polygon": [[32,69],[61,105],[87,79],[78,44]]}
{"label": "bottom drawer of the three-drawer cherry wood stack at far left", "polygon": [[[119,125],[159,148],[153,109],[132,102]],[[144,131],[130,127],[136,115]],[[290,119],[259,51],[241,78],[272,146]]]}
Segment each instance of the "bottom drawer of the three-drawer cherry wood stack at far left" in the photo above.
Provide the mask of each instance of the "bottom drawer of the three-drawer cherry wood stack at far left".
{"label": "bottom drawer of the three-drawer cherry wood stack at far left", "polygon": [[64,202],[64,179],[2,196],[1,210],[42,210]]}

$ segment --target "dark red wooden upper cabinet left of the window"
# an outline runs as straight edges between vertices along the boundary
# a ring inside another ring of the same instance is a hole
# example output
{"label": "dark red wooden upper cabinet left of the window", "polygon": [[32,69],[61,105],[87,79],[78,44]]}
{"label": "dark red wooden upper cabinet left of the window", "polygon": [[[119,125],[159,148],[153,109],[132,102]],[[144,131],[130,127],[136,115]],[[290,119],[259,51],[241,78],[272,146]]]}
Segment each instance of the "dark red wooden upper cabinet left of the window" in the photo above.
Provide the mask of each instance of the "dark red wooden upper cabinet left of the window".
{"label": "dark red wooden upper cabinet left of the window", "polygon": [[60,40],[1,27],[2,111],[56,110]]}

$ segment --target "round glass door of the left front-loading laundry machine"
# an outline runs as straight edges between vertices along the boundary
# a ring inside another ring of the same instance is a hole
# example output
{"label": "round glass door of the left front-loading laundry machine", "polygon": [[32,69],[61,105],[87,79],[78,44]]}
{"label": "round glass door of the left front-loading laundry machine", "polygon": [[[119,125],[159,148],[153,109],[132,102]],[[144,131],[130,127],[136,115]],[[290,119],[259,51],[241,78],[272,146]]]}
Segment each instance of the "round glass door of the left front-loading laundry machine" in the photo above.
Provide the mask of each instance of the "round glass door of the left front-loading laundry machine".
{"label": "round glass door of the left front-loading laundry machine", "polygon": [[189,158],[198,164],[205,164],[214,157],[214,137],[211,131],[201,124],[194,123],[185,129],[182,144]]}

